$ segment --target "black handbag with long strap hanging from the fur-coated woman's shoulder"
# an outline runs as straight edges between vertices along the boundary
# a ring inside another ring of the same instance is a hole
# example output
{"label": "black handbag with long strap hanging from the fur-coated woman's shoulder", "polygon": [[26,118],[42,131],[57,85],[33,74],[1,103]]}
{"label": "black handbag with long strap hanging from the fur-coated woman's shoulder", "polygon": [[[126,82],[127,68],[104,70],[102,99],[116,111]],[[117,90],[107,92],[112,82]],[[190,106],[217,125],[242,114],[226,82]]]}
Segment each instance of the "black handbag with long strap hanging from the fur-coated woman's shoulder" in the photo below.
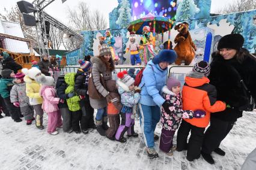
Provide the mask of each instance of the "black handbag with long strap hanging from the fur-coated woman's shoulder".
{"label": "black handbag with long strap hanging from the fur-coated woman's shoulder", "polygon": [[234,72],[237,73],[237,75],[240,79],[240,83],[241,83],[243,89],[245,89],[245,92],[246,92],[246,95],[247,95],[247,98],[248,98],[247,103],[245,105],[243,105],[242,107],[239,107],[239,111],[253,111],[254,108],[255,108],[255,101],[254,101],[254,98],[252,97],[251,91],[245,85],[245,82],[243,81],[239,72],[233,66],[231,66],[231,68],[233,69]]}

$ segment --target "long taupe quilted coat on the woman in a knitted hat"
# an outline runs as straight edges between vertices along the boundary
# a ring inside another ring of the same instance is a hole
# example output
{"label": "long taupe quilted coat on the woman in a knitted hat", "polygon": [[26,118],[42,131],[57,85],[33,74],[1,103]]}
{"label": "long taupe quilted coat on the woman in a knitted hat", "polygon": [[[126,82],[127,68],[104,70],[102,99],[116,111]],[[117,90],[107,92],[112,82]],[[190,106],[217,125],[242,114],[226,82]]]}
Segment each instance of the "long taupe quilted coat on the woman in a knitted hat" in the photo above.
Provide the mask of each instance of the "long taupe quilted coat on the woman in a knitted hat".
{"label": "long taupe quilted coat on the woman in a knitted hat", "polygon": [[112,72],[107,69],[106,64],[99,57],[91,57],[91,63],[93,64],[91,69],[93,83],[104,98],[100,100],[90,98],[90,104],[94,109],[104,108],[107,105],[105,97],[108,95],[108,91],[100,83],[100,75],[102,75],[105,81],[112,80]]}

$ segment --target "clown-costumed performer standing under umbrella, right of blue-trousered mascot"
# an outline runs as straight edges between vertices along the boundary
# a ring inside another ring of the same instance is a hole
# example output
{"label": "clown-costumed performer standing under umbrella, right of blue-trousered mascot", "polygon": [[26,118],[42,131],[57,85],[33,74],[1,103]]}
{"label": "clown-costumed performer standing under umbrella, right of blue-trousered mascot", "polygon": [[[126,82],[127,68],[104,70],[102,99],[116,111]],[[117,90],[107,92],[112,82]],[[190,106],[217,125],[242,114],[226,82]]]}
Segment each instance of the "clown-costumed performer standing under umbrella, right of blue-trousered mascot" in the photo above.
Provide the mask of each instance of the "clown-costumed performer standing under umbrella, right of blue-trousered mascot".
{"label": "clown-costumed performer standing under umbrella, right of blue-trousered mascot", "polygon": [[154,41],[154,37],[153,37],[152,32],[150,32],[150,27],[144,26],[143,27],[143,35],[141,37],[141,45],[143,45],[143,48],[144,48],[145,64],[147,64],[147,62],[150,59],[153,59],[153,57],[156,55],[156,53],[154,52],[154,48],[153,48],[153,41]]}

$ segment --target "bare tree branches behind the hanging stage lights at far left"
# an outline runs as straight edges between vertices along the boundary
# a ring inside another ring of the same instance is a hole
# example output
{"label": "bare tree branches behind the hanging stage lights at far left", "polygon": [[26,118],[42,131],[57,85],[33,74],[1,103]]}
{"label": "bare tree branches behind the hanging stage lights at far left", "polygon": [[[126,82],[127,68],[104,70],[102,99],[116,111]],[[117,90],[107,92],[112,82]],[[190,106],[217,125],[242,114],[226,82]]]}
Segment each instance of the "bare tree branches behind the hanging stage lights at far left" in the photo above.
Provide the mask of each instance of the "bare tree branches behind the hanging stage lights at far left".
{"label": "bare tree branches behind the hanging stage lights at far left", "polygon": [[23,17],[22,17],[22,13],[20,13],[19,8],[17,7],[12,7],[10,11],[8,11],[6,8],[4,8],[4,12],[6,13],[5,15],[0,13],[0,19],[2,20],[7,20],[10,22],[17,22],[20,23],[20,27],[22,29],[22,32],[24,34],[25,38],[34,40],[33,46],[37,46],[37,36],[35,34],[35,28],[31,27],[31,26],[26,26],[24,21],[23,21]]}

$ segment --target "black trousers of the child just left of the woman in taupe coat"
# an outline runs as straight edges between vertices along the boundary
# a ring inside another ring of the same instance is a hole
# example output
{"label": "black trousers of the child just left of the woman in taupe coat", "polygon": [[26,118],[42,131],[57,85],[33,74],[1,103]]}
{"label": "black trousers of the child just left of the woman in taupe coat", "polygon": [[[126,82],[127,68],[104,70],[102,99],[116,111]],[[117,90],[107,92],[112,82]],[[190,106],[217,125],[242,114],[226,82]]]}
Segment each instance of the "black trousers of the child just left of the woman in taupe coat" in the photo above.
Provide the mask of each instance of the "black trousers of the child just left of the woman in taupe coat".
{"label": "black trousers of the child just left of the woman in taupe coat", "polygon": [[94,109],[91,107],[90,101],[80,101],[80,107],[81,107],[81,112],[82,112],[81,129],[85,130],[85,129],[93,128],[93,126],[94,126],[94,118],[93,118]]}

